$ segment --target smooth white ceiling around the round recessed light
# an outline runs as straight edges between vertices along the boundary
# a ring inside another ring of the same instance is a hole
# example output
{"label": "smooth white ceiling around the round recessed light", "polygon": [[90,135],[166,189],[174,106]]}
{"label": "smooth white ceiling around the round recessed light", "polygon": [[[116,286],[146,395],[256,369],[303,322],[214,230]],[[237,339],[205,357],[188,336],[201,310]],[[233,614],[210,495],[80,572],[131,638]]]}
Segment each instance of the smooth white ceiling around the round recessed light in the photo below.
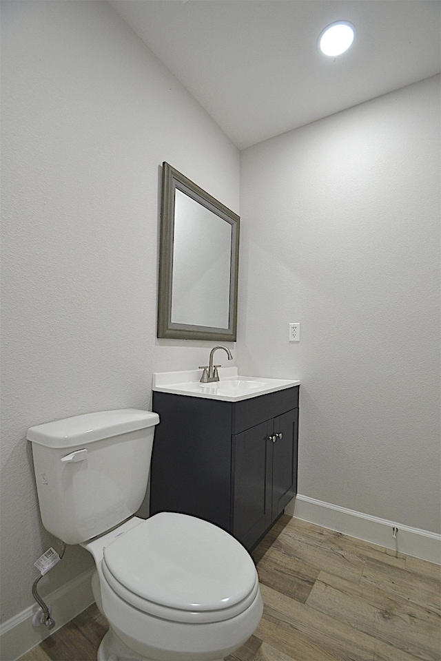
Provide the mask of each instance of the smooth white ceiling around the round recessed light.
{"label": "smooth white ceiling around the round recessed light", "polygon": [[[437,74],[439,0],[110,0],[243,149]],[[329,23],[356,26],[318,52]]]}

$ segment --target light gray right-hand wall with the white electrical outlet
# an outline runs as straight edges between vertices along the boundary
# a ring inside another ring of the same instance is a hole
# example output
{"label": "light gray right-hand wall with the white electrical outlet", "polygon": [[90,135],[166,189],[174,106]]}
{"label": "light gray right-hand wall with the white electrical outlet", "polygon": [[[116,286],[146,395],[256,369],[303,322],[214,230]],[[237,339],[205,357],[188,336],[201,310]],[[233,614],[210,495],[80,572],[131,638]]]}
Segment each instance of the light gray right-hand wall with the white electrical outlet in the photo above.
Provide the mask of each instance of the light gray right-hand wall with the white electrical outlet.
{"label": "light gray right-hand wall with the white electrical outlet", "polygon": [[238,364],[301,380],[298,492],[431,532],[439,109],[429,78],[249,147],[240,174]]}

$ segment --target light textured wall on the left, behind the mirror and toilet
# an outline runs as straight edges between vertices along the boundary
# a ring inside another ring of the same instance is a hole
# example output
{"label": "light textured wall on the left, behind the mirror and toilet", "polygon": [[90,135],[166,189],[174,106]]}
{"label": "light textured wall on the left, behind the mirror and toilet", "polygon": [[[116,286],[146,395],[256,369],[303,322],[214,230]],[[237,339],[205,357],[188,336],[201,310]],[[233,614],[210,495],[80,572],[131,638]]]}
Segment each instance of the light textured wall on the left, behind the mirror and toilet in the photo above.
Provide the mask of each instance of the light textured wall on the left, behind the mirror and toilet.
{"label": "light textured wall on the left, behind the mirror and toilet", "polygon": [[[239,154],[107,4],[2,2],[2,620],[32,602],[29,426],[151,406],[152,372],[211,343],[156,339],[164,160],[238,212]],[[48,594],[91,565],[70,547]]]}

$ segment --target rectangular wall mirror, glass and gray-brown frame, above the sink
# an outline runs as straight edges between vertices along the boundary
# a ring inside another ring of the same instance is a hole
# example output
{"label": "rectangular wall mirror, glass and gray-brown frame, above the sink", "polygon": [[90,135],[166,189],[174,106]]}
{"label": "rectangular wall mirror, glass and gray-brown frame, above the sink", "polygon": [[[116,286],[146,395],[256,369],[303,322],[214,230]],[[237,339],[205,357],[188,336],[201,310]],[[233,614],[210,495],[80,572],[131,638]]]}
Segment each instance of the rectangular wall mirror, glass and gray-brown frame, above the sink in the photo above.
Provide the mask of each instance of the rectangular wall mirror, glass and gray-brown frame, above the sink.
{"label": "rectangular wall mirror, glass and gray-brown frame, above the sink", "polygon": [[158,337],[236,341],[239,220],[163,163]]}

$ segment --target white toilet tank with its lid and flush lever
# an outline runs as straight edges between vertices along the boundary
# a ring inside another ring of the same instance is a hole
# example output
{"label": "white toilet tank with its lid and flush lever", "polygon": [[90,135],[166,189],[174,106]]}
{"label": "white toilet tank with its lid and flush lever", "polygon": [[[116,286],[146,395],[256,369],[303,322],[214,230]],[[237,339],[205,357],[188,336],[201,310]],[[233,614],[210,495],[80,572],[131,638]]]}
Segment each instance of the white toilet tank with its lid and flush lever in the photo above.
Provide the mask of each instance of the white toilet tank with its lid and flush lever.
{"label": "white toilet tank with its lid and flush lever", "polygon": [[31,427],[45,529],[78,544],[132,516],[145,496],[158,422],[157,413],[127,408]]}

